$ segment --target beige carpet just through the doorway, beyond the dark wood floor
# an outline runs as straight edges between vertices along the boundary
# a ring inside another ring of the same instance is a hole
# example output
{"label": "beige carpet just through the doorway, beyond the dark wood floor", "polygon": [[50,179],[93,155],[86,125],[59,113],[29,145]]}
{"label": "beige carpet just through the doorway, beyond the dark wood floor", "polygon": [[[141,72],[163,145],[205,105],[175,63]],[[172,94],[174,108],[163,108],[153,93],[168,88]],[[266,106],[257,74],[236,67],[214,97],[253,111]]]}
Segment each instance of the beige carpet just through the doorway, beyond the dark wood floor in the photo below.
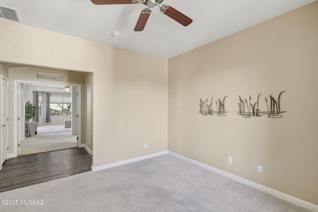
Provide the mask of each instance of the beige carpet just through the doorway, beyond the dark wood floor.
{"label": "beige carpet just through the doorway, beyond the dark wood floor", "polygon": [[77,147],[77,136],[71,132],[45,133],[26,137],[21,141],[19,155]]}

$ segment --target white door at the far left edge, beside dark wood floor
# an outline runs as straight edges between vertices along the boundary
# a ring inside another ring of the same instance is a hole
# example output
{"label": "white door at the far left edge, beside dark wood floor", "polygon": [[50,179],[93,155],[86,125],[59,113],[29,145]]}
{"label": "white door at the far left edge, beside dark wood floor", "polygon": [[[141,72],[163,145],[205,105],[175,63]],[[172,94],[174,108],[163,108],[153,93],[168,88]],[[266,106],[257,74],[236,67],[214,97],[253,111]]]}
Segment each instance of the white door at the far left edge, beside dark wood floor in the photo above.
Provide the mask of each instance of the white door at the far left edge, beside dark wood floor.
{"label": "white door at the far left edge, beside dark wood floor", "polygon": [[1,75],[1,164],[9,158],[8,121],[8,79]]}

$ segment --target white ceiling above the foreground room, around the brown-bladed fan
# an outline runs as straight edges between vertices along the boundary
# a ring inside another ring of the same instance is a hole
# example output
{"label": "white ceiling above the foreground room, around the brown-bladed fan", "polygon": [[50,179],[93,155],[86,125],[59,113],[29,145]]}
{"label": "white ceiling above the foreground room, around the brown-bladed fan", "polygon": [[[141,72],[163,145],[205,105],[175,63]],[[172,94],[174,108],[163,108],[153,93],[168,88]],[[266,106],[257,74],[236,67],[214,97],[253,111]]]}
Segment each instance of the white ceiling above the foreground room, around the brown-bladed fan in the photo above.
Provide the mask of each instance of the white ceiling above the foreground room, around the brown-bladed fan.
{"label": "white ceiling above the foreground room, around the brown-bladed fan", "polygon": [[[24,25],[171,58],[314,1],[164,0],[162,4],[174,7],[193,22],[184,27],[162,14],[157,6],[152,8],[142,32],[134,31],[141,11],[147,8],[142,3],[95,5],[90,0],[0,0],[0,6],[16,9]],[[113,31],[120,32],[120,36],[112,37]]]}

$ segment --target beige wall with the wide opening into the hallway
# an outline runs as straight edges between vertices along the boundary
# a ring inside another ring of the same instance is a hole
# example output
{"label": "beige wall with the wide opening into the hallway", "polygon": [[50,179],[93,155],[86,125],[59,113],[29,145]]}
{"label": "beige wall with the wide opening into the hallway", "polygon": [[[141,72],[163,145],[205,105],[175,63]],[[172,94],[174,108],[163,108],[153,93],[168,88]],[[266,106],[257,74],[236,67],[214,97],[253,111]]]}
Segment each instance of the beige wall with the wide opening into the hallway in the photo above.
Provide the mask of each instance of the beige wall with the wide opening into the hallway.
{"label": "beige wall with the wide opening into the hallway", "polygon": [[0,28],[0,62],[93,72],[93,166],[167,150],[166,59],[153,67],[152,56],[5,20]]}

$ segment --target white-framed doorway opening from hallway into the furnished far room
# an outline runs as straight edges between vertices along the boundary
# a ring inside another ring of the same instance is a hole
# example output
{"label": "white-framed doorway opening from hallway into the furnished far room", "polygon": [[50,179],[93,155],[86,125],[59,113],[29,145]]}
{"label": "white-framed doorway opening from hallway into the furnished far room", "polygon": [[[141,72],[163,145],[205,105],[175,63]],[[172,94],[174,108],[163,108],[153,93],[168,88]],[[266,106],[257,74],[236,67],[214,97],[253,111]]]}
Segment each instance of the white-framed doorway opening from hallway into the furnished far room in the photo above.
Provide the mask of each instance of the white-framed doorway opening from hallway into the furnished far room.
{"label": "white-framed doorway opening from hallway into the furnished far room", "polygon": [[[64,91],[63,88],[65,86],[71,86],[72,89]],[[79,147],[81,136],[79,130],[80,88],[79,84],[66,85],[61,83],[14,81],[14,89],[17,89],[17,92],[14,91],[14,94],[18,94],[17,98],[14,97],[14,102],[17,101],[17,103],[14,103],[14,106],[18,106],[14,109],[14,115],[18,115],[18,122],[14,123],[17,126],[17,128],[14,128],[14,136],[17,137],[17,140],[14,139],[14,141],[17,141],[14,142],[14,147],[17,149],[17,155]],[[34,92],[37,92],[39,99],[38,103],[36,103],[38,104],[38,119],[35,121],[40,126],[37,129],[39,132],[36,131],[35,134],[30,136],[25,130],[24,106],[30,100],[34,103]],[[49,104],[46,101],[49,101]],[[49,108],[47,108],[47,105]],[[52,109],[54,106],[61,106],[62,109]],[[52,114],[52,111],[55,113]],[[46,120],[47,114],[52,115],[50,121]],[[66,120],[70,121],[70,126],[66,126]]]}

